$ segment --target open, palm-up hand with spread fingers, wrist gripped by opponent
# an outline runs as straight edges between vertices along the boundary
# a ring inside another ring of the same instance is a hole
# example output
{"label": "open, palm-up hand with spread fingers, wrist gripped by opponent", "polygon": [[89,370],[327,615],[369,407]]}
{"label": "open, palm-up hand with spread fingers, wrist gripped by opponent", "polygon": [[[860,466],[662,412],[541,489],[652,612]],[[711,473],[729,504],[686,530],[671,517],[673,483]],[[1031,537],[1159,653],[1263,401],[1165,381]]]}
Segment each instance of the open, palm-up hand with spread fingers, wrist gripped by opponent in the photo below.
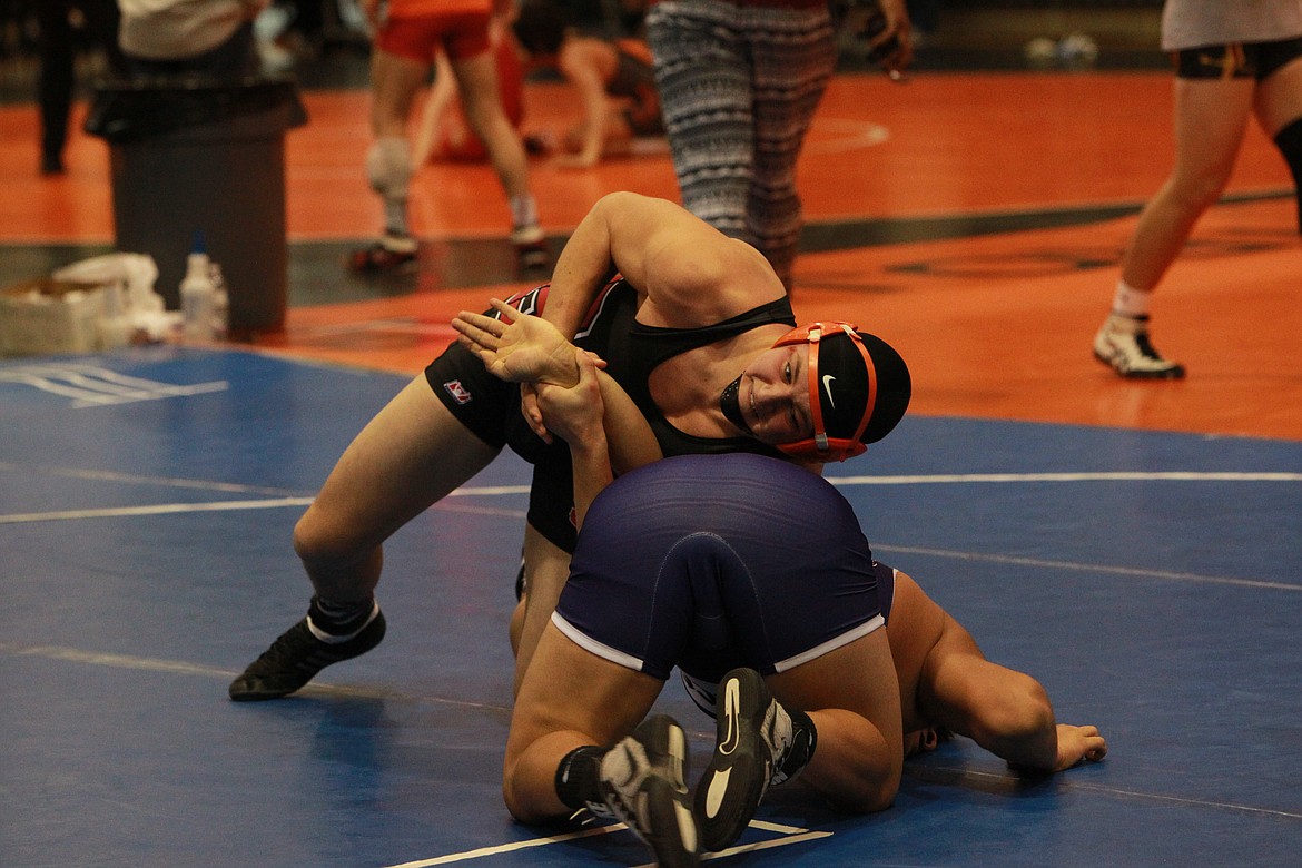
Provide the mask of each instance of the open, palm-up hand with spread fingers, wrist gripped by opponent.
{"label": "open, palm-up hand with spread fingers, wrist gripped by opponent", "polygon": [[521,314],[503,301],[490,302],[500,319],[461,311],[452,320],[457,341],[479,357],[495,377],[508,383],[578,383],[578,351],[555,325]]}

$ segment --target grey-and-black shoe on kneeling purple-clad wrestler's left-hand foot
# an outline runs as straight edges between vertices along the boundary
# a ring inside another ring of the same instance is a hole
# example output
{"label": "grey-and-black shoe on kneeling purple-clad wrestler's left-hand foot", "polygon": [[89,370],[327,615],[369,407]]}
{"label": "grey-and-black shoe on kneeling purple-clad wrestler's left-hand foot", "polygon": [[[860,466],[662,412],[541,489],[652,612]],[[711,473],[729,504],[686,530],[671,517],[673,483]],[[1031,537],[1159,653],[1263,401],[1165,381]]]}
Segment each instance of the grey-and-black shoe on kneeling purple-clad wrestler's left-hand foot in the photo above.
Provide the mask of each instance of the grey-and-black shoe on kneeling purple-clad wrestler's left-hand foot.
{"label": "grey-and-black shoe on kneeling purple-clad wrestler's left-hand foot", "polygon": [[686,774],[687,738],[667,714],[648,717],[602,757],[605,807],[651,846],[661,868],[700,864]]}

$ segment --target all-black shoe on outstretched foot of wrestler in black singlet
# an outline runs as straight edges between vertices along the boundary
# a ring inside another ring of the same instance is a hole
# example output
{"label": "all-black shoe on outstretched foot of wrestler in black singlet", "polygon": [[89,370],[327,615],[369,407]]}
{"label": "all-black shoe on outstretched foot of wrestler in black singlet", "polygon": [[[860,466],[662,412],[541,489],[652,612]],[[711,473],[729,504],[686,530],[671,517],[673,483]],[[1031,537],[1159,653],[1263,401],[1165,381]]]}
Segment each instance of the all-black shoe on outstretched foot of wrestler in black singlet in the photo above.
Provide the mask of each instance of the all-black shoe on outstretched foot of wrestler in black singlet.
{"label": "all-black shoe on outstretched foot of wrestler in black singlet", "polygon": [[303,618],[271,643],[258,660],[230,682],[230,699],[237,703],[286,696],[331,664],[365,655],[384,639],[384,613],[375,614],[352,639],[322,642]]}

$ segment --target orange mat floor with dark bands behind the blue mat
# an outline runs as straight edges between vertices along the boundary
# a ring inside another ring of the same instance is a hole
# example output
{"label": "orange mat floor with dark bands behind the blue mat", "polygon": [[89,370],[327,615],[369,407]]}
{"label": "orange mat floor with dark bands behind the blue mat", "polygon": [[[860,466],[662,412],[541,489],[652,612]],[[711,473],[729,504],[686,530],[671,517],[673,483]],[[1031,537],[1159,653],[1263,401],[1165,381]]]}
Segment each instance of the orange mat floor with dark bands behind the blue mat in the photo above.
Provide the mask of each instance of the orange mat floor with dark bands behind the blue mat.
{"label": "orange mat floor with dark bands behind the blue mat", "polygon": [[[303,100],[309,124],[285,147],[288,329],[262,342],[414,372],[450,340],[450,316],[510,284],[449,276],[440,259],[448,245],[504,234],[500,189],[486,165],[422,167],[414,278],[363,282],[335,260],[296,268],[297,251],[346,250],[380,221],[361,168],[366,91]],[[531,83],[527,100],[526,129],[562,122],[561,85]],[[4,107],[0,118],[5,249],[112,243],[107,146],[74,133],[66,176],[43,178],[35,109]],[[1154,340],[1186,363],[1187,380],[1126,383],[1090,354],[1134,215],[1170,157],[1163,72],[923,73],[905,85],[838,75],[799,164],[811,252],[798,263],[797,315],[852,319],[898,345],[915,373],[914,413],[1302,439],[1295,206],[1255,126],[1226,202],[1200,221],[1155,305]],[[608,191],[677,197],[664,155],[533,168],[556,243]]]}

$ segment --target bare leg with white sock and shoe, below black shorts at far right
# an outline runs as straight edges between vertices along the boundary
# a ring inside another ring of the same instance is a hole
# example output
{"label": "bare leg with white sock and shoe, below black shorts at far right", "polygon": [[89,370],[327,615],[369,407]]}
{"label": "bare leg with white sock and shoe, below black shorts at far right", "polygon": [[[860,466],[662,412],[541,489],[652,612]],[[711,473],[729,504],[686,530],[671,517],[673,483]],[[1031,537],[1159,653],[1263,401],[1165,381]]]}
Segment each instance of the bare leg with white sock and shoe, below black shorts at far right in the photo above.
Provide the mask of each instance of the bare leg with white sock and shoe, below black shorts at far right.
{"label": "bare leg with white sock and shoe, below black shorts at far right", "polygon": [[1121,262],[1112,314],[1094,338],[1095,357],[1121,376],[1185,376],[1184,366],[1163,358],[1148,341],[1148,306],[1194,224],[1229,181],[1254,91],[1251,78],[1176,79],[1176,165],[1139,212]]}

